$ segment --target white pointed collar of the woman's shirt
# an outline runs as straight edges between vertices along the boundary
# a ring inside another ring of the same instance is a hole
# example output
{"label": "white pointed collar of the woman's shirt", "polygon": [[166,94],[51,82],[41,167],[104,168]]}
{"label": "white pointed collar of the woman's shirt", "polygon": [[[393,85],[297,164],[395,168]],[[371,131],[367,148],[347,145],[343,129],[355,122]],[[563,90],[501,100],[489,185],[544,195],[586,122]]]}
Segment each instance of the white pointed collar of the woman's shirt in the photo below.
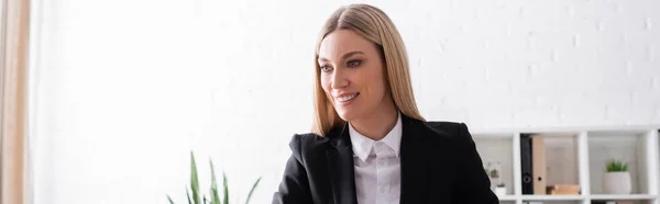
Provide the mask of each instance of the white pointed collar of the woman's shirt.
{"label": "white pointed collar of the woman's shirt", "polygon": [[[381,139],[381,141],[385,143],[385,145],[389,146],[394,149],[396,157],[399,157],[400,144],[402,144],[402,114],[398,113],[396,125]],[[351,144],[353,148],[353,154],[360,158],[363,162],[366,161],[369,155],[371,154],[375,140],[358,133],[353,125],[349,123],[349,135],[351,137]]]}

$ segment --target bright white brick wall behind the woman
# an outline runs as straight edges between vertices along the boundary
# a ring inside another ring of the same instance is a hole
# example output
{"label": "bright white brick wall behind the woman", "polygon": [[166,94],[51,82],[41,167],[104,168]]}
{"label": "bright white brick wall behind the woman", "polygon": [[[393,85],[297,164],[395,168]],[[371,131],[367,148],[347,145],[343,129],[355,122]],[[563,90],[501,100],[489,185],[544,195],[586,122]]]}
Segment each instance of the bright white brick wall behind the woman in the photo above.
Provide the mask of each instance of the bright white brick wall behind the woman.
{"label": "bright white brick wall behind the woman", "polygon": [[[471,129],[660,123],[652,0],[367,1],[408,47],[422,115]],[[183,203],[188,152],[232,200],[311,116],[314,42],[349,1],[36,1],[31,149],[37,204]]]}

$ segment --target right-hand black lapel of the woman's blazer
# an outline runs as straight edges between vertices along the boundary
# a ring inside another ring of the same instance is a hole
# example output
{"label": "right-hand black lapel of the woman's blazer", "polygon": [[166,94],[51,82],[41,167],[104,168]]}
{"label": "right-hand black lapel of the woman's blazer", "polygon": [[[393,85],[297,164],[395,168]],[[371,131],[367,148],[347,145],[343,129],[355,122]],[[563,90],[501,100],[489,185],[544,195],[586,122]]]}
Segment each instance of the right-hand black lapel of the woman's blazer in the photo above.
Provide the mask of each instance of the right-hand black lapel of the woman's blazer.
{"label": "right-hand black lapel of the woman's blazer", "polygon": [[402,114],[403,137],[400,146],[402,194],[400,203],[424,203],[428,190],[429,162],[424,143],[422,122]]}

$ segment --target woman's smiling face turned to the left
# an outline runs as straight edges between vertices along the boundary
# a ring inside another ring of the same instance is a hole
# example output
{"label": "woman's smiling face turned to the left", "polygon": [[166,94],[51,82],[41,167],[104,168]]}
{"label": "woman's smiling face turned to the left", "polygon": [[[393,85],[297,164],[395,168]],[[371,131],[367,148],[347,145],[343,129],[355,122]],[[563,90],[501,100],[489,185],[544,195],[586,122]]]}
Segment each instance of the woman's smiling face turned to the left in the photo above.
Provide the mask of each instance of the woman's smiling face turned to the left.
{"label": "woman's smiling face turned to the left", "polygon": [[326,36],[319,47],[321,86],[344,121],[389,107],[384,60],[374,43],[350,30]]}

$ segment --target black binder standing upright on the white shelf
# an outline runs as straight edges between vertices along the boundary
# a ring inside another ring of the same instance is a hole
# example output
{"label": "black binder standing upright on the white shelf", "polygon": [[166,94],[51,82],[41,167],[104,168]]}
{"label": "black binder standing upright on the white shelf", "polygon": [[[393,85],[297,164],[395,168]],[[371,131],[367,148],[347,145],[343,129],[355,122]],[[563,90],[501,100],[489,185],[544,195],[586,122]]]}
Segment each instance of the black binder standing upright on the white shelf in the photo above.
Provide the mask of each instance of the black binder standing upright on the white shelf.
{"label": "black binder standing upright on the white shelf", "polygon": [[522,194],[534,194],[531,160],[531,135],[520,134],[520,172],[522,180]]}

